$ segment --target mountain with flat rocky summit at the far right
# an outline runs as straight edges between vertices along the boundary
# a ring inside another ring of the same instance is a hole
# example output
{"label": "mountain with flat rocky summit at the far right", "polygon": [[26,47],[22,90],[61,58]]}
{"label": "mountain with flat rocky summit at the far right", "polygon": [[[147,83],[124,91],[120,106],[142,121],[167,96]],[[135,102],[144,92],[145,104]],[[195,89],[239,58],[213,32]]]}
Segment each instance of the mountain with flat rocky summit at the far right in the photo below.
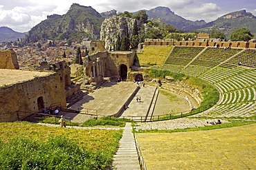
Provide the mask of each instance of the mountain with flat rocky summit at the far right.
{"label": "mountain with flat rocky summit at the far right", "polygon": [[250,12],[246,12],[246,10],[230,12],[215,21],[202,25],[199,31],[210,33],[213,27],[225,32],[226,36],[239,28],[248,28],[252,34],[256,34],[256,17]]}

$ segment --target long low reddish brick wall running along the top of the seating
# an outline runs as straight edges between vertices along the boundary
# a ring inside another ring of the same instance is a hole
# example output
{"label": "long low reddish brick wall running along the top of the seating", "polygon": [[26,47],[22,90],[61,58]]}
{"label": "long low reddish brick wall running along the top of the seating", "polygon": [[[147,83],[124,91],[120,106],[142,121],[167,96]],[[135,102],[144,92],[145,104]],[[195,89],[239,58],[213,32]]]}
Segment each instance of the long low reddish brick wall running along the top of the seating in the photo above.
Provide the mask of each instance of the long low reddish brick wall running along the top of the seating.
{"label": "long low reddish brick wall running along the top of the seating", "polygon": [[175,39],[145,39],[144,45],[182,45],[196,47],[241,47],[256,48],[255,40],[251,41],[221,41],[221,39],[210,39],[209,34],[199,34],[197,39],[192,41],[176,41]]}

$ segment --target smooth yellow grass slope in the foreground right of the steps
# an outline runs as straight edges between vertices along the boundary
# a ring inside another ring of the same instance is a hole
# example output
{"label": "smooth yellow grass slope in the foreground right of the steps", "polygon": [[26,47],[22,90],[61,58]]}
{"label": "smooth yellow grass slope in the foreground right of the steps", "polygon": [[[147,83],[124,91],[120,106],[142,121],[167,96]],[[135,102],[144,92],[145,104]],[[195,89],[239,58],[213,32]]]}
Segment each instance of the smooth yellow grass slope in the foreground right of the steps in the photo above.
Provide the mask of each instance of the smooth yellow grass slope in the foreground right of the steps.
{"label": "smooth yellow grass slope in the foreground right of the steps", "polygon": [[211,131],[136,134],[147,170],[256,169],[256,124]]}

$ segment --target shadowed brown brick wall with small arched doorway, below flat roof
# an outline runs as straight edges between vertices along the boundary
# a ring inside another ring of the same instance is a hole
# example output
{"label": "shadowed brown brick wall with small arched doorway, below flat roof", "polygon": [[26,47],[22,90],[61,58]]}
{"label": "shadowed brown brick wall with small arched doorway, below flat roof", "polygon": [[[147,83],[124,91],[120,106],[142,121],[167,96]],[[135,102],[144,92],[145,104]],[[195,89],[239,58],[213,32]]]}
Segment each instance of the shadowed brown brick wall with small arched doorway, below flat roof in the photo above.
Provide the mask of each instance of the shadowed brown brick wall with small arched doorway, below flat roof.
{"label": "shadowed brown brick wall with small arched doorway, below flat roof", "polygon": [[51,105],[66,107],[64,83],[57,73],[0,88],[0,122],[17,120],[17,111],[24,118]]}

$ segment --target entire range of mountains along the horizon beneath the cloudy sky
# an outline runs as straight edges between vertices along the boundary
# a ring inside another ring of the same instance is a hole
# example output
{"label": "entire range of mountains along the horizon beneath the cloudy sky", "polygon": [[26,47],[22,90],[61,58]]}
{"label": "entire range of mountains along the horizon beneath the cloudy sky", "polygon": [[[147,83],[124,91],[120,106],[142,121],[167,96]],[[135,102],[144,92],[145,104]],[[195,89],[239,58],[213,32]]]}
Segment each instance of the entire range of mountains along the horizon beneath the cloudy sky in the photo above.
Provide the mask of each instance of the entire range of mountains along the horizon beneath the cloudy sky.
{"label": "entire range of mountains along the horizon beneath the cloudy sky", "polygon": [[[206,23],[203,20],[190,21],[184,19],[174,14],[167,7],[159,6],[152,10],[145,10],[145,12],[147,12],[149,19],[161,19],[165,23],[176,27],[177,30],[186,32],[198,30],[199,32],[210,33],[210,30],[214,27],[221,32],[226,32],[226,34],[230,34],[238,28],[248,28],[252,34],[256,34],[256,17],[246,12],[246,10],[225,14],[210,23]],[[28,42],[36,42],[43,39],[82,39],[85,37],[98,39],[100,25],[104,18],[113,15],[116,15],[116,10],[99,13],[91,6],[80,6],[77,3],[73,3],[66,14],[53,14],[31,28],[26,39]],[[0,42],[15,41],[17,38],[24,37],[24,33],[16,32],[17,34],[11,34],[10,28],[3,27],[1,29],[4,31],[0,30]]]}

